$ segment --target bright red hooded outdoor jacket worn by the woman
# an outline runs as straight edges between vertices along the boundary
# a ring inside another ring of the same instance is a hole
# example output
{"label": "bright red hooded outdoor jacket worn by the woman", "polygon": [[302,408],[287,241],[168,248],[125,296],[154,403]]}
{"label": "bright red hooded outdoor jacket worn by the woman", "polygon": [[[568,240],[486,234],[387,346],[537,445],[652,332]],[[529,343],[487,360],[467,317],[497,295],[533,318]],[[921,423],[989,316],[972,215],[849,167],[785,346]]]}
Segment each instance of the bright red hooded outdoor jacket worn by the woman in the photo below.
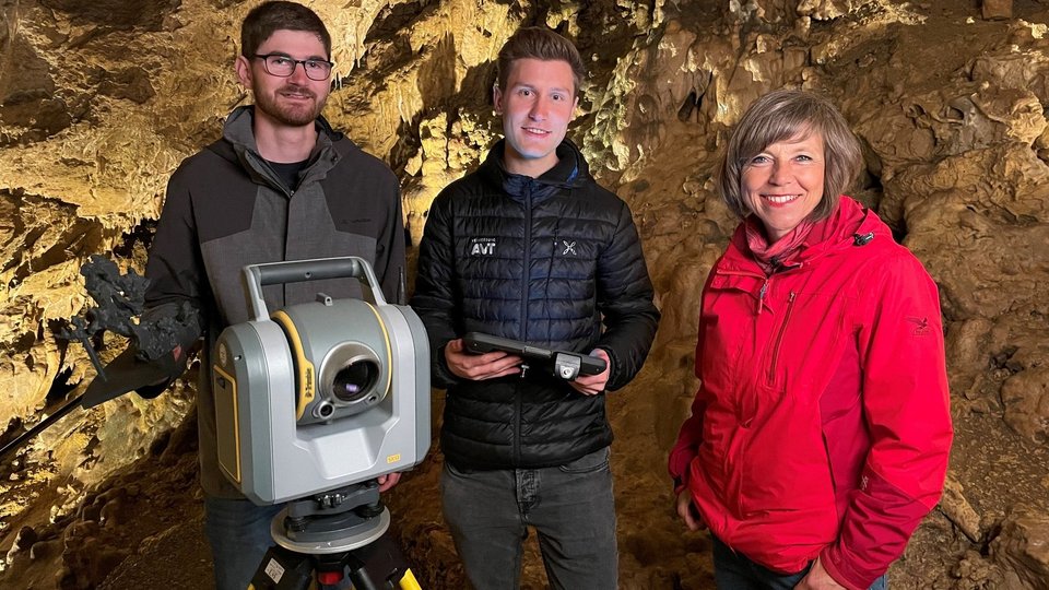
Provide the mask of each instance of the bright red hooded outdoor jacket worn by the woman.
{"label": "bright red hooded outdoor jacket worn by the woman", "polygon": [[692,416],[670,455],[720,540],[865,589],[940,499],[953,430],[936,286],[848,197],[766,275],[743,225],[703,293]]}

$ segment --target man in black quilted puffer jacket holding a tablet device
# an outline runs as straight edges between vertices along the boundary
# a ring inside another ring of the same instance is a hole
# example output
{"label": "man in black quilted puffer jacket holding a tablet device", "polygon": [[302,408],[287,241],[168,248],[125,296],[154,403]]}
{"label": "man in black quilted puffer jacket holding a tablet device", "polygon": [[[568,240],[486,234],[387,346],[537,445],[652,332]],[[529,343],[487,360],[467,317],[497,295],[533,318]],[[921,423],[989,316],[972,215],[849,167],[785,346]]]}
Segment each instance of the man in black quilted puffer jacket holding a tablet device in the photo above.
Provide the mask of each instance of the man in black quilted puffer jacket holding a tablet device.
{"label": "man in black quilted puffer jacket holding a tablet device", "polygon": [[[434,385],[448,389],[445,519],[474,588],[519,586],[531,526],[552,587],[613,589],[604,391],[641,368],[659,311],[629,208],[564,139],[585,74],[578,51],[523,28],[498,66],[506,139],[434,201],[412,299]],[[608,368],[566,381],[511,354],[468,354],[471,331],[591,353]]]}

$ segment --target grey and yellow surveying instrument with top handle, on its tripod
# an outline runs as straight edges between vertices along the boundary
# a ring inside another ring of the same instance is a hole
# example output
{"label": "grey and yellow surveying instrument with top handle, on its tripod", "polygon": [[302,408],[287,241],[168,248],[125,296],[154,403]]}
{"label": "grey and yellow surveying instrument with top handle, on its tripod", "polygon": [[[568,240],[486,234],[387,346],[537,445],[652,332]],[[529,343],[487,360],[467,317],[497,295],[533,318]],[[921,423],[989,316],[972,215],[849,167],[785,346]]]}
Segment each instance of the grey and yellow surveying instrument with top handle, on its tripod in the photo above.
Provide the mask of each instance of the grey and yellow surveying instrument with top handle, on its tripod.
{"label": "grey and yellow surveying instrument with top handle, on its tripod", "polygon": [[[357,279],[365,299],[268,312],[262,286]],[[219,462],[259,505],[285,503],[252,588],[417,589],[385,535],[376,477],[406,471],[431,440],[429,345],[411,308],[386,303],[362,258],[243,270],[249,321],[219,337],[212,379]]]}

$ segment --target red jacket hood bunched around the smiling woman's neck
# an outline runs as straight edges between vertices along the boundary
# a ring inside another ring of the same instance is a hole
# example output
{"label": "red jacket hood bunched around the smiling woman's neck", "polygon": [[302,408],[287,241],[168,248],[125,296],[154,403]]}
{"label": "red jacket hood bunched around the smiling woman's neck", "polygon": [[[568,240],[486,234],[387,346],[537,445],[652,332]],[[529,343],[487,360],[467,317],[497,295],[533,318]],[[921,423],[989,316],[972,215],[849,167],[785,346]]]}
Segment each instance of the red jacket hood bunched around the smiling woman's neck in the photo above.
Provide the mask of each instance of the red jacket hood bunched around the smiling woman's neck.
{"label": "red jacket hood bunched around the smiling woman's neck", "polygon": [[[744,220],[732,234],[724,255],[726,270],[755,270],[754,256],[746,243],[746,224],[761,223],[753,215]],[[793,255],[782,261],[783,267],[795,267],[832,252],[868,246],[879,240],[893,241],[888,225],[876,213],[842,194],[829,216],[815,224],[809,237]]]}

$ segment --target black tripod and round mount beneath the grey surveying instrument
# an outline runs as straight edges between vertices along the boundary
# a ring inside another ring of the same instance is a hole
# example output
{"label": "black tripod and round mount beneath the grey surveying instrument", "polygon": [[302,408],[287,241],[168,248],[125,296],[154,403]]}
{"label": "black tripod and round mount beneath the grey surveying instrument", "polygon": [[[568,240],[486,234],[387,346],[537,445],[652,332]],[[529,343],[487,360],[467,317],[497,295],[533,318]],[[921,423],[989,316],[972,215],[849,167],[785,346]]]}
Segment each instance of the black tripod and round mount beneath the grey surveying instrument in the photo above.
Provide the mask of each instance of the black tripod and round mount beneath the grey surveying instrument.
{"label": "black tripod and round mount beneath the grey surveying instrument", "polygon": [[390,511],[373,480],[291,500],[270,524],[266,552],[248,590],[420,590],[386,535]]}

